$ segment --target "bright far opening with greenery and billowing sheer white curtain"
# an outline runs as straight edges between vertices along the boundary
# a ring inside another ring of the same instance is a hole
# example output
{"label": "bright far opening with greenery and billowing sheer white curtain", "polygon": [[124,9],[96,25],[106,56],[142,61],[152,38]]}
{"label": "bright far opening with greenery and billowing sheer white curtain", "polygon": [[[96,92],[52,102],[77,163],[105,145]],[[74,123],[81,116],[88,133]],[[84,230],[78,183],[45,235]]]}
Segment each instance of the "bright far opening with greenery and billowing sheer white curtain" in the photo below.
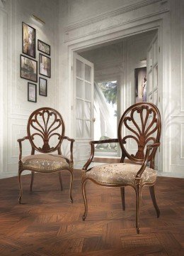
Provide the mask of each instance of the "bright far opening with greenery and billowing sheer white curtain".
{"label": "bright far opening with greenery and billowing sheer white curtain", "polygon": [[[117,80],[94,83],[94,140],[117,138]],[[117,156],[117,144],[97,144],[95,156]]]}

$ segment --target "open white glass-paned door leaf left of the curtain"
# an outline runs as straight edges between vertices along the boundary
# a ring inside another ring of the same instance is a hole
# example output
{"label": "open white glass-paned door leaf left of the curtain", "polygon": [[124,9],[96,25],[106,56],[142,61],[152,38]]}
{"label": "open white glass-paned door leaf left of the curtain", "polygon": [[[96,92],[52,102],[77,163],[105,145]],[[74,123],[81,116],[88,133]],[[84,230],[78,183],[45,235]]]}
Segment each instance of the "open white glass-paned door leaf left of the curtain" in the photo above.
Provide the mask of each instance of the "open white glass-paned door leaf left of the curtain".
{"label": "open white glass-paned door leaf left of the curtain", "polygon": [[94,65],[74,53],[74,134],[76,162],[83,163],[90,154],[93,140]]}

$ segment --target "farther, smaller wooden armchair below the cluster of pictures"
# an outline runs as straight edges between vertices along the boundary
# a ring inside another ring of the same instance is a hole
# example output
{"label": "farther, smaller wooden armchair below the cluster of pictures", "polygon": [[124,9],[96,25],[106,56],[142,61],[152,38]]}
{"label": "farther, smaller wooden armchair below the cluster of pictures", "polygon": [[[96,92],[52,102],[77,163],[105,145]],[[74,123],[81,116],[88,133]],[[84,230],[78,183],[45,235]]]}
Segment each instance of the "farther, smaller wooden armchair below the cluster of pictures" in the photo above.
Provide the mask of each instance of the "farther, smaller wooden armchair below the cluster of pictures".
{"label": "farther, smaller wooden armchair below the cluster of pictures", "polygon": [[[19,162],[18,162],[18,181],[20,188],[19,203],[22,198],[21,174],[24,170],[31,171],[30,191],[33,188],[34,174],[40,173],[59,173],[59,181],[62,190],[62,170],[68,170],[71,174],[69,196],[71,203],[71,187],[73,183],[73,144],[74,139],[64,136],[64,121],[61,114],[57,110],[50,107],[42,107],[35,110],[28,119],[27,136],[23,139],[18,139],[19,143]],[[31,154],[22,157],[22,142],[26,139],[29,140],[31,145]],[[62,156],[61,145],[63,140],[66,139],[70,143],[70,159]],[[51,146],[51,144],[53,146]],[[35,154],[38,151],[41,154]],[[57,151],[57,154],[51,154]]]}

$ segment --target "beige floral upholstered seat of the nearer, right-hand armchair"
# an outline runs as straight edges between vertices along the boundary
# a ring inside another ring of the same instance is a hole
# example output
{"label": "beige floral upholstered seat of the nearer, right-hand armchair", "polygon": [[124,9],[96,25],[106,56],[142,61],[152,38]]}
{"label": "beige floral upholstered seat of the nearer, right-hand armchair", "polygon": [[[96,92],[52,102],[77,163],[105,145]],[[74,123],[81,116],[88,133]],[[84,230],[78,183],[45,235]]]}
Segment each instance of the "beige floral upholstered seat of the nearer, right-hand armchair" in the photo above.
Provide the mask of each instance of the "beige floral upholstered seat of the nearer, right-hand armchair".
{"label": "beige floral upholstered seat of the nearer, right-hand armchair", "polygon": [[[95,166],[90,171],[86,172],[86,177],[92,178],[98,183],[104,184],[125,184],[134,183],[134,178],[137,171],[140,169],[138,164],[103,164],[101,166]],[[154,183],[156,181],[156,171],[149,167],[146,167],[142,174],[143,183]]]}

